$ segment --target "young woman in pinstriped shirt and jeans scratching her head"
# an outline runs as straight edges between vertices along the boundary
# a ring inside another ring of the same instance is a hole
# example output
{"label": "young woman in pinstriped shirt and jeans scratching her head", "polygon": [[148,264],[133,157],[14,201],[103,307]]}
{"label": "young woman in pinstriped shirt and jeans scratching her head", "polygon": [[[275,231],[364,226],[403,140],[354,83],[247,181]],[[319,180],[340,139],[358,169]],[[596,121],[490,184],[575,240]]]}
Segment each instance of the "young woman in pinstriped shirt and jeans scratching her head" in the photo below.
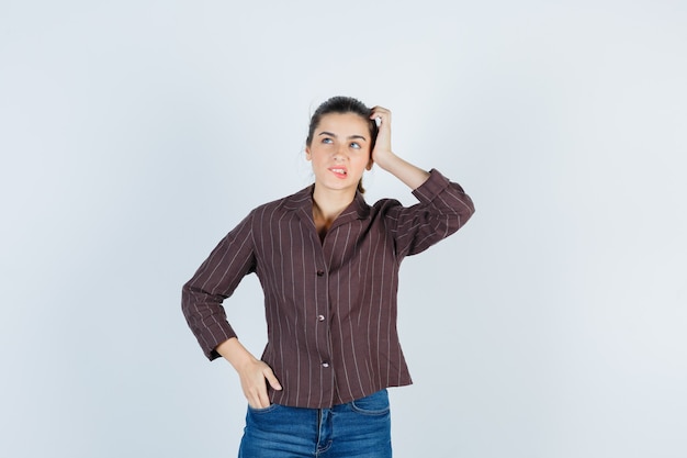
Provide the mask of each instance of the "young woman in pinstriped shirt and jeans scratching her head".
{"label": "young woman in pinstriped shirt and jeans scratching her head", "polygon": [[[391,112],[356,99],[315,111],[305,156],[315,183],[229,232],[184,284],[183,313],[207,358],[224,357],[240,378],[248,413],[239,457],[391,457],[386,388],[412,383],[396,333],[398,268],[458,231],[474,206],[437,170],[396,156]],[[373,164],[419,203],[368,205],[361,179]],[[260,359],[222,305],[251,272],[264,291]]]}

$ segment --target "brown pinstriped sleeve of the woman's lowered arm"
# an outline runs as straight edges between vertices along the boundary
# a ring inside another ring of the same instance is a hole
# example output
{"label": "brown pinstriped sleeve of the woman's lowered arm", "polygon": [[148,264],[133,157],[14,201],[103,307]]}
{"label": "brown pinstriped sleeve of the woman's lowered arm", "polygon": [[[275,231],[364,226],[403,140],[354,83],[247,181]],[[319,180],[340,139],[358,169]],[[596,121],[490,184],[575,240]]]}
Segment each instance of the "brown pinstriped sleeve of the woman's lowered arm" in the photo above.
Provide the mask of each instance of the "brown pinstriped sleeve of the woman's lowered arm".
{"label": "brown pinstriped sleeve of the woman's lowered arm", "polygon": [[252,213],[212,250],[195,275],[181,289],[181,309],[205,356],[219,357],[217,345],[236,333],[226,320],[222,302],[241,279],[255,271]]}

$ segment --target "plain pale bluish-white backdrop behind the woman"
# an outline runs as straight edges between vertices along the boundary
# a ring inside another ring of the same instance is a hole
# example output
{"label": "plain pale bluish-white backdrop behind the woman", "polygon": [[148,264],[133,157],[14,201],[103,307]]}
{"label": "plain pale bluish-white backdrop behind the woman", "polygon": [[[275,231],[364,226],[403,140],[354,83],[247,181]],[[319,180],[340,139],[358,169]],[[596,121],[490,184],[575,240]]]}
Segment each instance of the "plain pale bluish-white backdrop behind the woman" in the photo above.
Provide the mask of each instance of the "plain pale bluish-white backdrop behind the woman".
{"label": "plain pale bluish-white backdrop behind the woman", "polygon": [[[477,208],[402,268],[395,456],[687,456],[685,24],[682,0],[2,0],[0,456],[236,455],[238,379],[180,289],[312,182],[336,94]],[[260,354],[255,276],[225,304]]]}

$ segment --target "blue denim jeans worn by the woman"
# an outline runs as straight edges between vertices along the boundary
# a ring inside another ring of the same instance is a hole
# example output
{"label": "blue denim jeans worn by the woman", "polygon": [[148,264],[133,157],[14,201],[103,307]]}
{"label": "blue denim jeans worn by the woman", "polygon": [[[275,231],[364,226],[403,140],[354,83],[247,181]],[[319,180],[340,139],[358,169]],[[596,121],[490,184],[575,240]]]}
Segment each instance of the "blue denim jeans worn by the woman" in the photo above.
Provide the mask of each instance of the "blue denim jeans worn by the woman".
{"label": "blue denim jeans worn by the woman", "polygon": [[386,390],[331,409],[248,407],[239,458],[391,458]]}

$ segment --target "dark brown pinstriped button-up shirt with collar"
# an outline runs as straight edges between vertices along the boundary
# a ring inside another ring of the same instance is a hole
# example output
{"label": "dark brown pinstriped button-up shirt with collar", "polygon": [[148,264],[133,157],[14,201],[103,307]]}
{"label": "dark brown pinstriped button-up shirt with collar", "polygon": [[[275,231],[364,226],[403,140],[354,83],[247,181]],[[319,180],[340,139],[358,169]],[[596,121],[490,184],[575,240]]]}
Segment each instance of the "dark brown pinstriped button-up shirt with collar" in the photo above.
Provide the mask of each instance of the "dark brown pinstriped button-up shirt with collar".
{"label": "dark brown pinstriped button-up shirt with collar", "polygon": [[261,205],[214,248],[182,289],[182,310],[203,351],[236,337],[223,301],[255,272],[264,291],[262,354],[283,387],[272,403],[324,409],[410,384],[396,332],[398,268],[458,231],[473,214],[463,189],[431,170],[419,203],[374,205],[357,193],[324,241],[313,187]]}

